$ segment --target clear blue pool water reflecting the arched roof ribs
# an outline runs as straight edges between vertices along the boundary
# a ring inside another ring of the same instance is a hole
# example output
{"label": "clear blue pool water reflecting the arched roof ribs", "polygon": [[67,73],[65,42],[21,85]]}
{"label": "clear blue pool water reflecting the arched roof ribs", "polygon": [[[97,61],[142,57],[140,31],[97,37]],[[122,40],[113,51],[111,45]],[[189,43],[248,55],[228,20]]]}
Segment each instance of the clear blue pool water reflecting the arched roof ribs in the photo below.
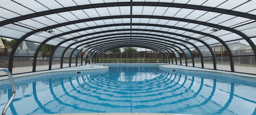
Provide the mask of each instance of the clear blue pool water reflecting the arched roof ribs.
{"label": "clear blue pool water reflecting the arched roof ribs", "polygon": [[[11,96],[1,89],[0,110]],[[103,74],[60,75],[19,84],[7,114],[158,112],[256,114],[256,88],[157,66],[113,66]]]}

